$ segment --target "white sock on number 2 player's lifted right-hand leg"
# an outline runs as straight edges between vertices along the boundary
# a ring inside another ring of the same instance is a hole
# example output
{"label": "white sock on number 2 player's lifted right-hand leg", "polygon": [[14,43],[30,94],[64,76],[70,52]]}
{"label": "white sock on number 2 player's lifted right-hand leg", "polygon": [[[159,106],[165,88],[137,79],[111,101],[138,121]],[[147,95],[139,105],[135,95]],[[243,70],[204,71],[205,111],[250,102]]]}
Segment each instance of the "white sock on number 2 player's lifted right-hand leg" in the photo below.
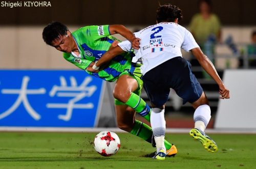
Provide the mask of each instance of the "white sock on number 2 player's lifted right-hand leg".
{"label": "white sock on number 2 player's lifted right-hand leg", "polygon": [[197,107],[194,113],[195,128],[204,132],[210,121],[210,117],[210,106],[204,104]]}

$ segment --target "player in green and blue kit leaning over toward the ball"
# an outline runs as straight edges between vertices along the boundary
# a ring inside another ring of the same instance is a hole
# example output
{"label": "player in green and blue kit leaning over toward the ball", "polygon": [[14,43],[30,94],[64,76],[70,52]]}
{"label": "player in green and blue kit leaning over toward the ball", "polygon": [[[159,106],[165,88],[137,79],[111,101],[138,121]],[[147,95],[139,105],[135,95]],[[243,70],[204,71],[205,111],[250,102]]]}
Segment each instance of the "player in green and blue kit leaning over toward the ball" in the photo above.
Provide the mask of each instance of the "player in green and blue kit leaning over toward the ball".
{"label": "player in green and blue kit leaning over toward the ball", "polygon": [[[152,143],[154,140],[151,127],[135,120],[136,111],[150,121],[151,108],[139,97],[142,89],[141,65],[132,63],[133,52],[120,54],[97,72],[88,71],[110,49],[114,41],[119,41],[111,36],[113,34],[122,35],[135,49],[139,48],[138,40],[122,25],[85,26],[70,33],[66,25],[52,22],[44,28],[42,38],[48,45],[62,51],[67,61],[90,75],[106,81],[117,80],[113,95],[118,127]],[[166,140],[164,143],[166,150],[170,150],[167,156],[174,156],[177,153],[176,147]]]}

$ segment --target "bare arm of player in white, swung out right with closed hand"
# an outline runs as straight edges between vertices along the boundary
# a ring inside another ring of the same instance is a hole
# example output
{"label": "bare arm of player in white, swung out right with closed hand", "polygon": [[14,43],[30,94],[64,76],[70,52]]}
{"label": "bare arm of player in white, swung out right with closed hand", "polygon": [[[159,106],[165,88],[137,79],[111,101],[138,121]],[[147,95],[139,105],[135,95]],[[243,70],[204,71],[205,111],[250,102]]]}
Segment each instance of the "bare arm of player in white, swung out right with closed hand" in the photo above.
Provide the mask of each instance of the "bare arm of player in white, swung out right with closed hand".
{"label": "bare arm of player in white, swung out right with closed hand", "polygon": [[191,52],[198,60],[199,64],[202,68],[217,82],[219,85],[219,93],[221,95],[221,99],[229,99],[229,90],[226,89],[224,83],[222,82],[220,76],[218,75],[214,65],[210,62],[210,60],[204,55],[202,50],[197,47],[191,49]]}

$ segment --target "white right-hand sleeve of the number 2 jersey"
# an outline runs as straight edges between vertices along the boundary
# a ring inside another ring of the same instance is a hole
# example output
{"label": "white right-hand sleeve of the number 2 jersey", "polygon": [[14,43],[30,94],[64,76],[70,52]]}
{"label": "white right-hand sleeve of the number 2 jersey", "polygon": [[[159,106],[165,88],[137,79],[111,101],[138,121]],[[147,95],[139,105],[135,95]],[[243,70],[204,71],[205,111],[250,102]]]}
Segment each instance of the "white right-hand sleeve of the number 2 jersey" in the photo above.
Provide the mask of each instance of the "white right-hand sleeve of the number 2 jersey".
{"label": "white right-hand sleeve of the number 2 jersey", "polygon": [[184,41],[181,45],[181,48],[189,51],[191,49],[197,48],[199,45],[197,44],[193,35],[185,29]]}

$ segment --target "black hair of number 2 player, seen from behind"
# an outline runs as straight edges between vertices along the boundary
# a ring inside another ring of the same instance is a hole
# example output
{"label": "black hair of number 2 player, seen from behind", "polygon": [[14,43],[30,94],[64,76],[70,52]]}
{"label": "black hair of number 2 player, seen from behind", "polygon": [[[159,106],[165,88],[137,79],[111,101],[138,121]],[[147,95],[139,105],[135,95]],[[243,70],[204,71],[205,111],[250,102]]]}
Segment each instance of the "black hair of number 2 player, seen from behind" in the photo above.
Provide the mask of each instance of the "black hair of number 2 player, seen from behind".
{"label": "black hair of number 2 player, seen from behind", "polygon": [[178,18],[178,22],[182,19],[182,11],[179,7],[171,4],[161,5],[156,11],[157,22],[160,23],[162,21],[166,22],[174,22],[176,18]]}

